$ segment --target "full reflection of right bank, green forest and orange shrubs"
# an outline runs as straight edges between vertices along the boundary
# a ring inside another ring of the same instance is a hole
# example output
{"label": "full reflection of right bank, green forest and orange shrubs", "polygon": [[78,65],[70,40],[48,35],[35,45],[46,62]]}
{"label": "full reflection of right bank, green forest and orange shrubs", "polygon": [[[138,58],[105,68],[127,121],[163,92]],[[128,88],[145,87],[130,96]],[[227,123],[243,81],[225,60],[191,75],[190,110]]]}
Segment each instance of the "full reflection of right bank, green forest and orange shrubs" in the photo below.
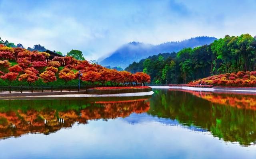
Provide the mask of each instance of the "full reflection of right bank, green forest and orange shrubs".
{"label": "full reflection of right bank, green forest and orange shrubs", "polygon": [[[148,114],[208,130],[224,141],[256,141],[256,96],[154,90]],[[196,95],[197,94],[197,95]],[[200,97],[200,98],[198,98]],[[205,99],[207,100],[205,100]]]}

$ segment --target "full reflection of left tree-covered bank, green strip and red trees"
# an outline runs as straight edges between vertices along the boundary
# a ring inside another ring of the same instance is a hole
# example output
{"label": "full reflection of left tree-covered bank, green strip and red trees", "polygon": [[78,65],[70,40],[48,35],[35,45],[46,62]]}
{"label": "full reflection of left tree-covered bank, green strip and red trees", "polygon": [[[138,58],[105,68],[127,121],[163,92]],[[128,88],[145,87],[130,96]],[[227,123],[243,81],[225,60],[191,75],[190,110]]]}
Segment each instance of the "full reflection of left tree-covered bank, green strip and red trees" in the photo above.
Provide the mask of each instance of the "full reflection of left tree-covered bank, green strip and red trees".
{"label": "full reflection of left tree-covered bank, green strip and red trees", "polygon": [[149,110],[145,99],[121,102],[84,102],[83,100],[2,100],[0,101],[0,138],[25,133],[51,133],[88,120],[114,119]]}

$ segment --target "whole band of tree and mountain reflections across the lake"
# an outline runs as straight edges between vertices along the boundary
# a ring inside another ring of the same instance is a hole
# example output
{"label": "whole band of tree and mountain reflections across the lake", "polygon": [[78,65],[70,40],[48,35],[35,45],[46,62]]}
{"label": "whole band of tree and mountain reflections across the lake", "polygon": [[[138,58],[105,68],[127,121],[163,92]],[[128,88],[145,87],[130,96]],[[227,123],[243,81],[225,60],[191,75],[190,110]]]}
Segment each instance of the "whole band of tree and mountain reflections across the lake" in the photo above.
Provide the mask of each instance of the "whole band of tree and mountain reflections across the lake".
{"label": "whole band of tree and mountain reflections across the lake", "polygon": [[27,133],[48,135],[75,123],[122,117],[130,124],[160,122],[210,132],[226,142],[244,146],[256,143],[255,95],[157,89],[154,92],[151,98],[98,101],[95,98],[0,100],[0,139]]}

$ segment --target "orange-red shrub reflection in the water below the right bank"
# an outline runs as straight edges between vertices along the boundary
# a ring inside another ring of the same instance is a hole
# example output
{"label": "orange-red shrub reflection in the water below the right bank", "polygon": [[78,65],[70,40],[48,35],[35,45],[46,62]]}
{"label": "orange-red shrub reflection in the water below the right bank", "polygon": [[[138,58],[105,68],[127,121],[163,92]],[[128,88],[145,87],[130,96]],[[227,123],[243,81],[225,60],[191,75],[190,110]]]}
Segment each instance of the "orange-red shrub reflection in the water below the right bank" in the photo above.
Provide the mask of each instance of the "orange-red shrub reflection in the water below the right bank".
{"label": "orange-red shrub reflection in the water below the right bank", "polygon": [[[176,91],[174,89],[170,89]],[[182,92],[189,92],[194,96],[206,99],[213,103],[229,105],[237,108],[245,108],[256,110],[256,97],[250,94],[228,94],[228,93],[213,93],[213,92],[198,92],[192,90],[177,90]]]}

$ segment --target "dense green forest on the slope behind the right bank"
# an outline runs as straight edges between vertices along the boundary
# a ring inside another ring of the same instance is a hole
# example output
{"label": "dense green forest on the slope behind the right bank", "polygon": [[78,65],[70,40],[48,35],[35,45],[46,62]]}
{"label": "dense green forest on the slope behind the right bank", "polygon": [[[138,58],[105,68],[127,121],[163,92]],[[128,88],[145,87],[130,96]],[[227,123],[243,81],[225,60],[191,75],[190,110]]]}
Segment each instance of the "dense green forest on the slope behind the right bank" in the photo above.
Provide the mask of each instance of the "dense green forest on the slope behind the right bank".
{"label": "dense green forest on the slope behind the right bank", "polygon": [[184,48],[178,53],[160,53],[132,63],[126,71],[144,71],[153,84],[182,84],[192,80],[256,70],[256,37],[226,35],[210,45]]}

